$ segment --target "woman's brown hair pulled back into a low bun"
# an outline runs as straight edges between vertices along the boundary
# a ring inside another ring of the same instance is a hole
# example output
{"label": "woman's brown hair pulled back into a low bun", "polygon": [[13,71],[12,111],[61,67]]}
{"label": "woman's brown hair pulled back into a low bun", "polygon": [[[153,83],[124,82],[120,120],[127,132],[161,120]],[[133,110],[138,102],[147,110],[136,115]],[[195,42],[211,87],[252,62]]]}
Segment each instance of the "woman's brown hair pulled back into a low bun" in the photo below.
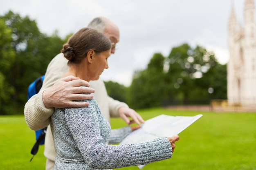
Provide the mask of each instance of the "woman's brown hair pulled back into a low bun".
{"label": "woman's brown hair pulled back into a low bun", "polygon": [[111,42],[105,35],[94,29],[83,28],[72,35],[63,45],[61,52],[69,63],[80,63],[88,51],[94,50],[96,53],[100,53],[110,48]]}

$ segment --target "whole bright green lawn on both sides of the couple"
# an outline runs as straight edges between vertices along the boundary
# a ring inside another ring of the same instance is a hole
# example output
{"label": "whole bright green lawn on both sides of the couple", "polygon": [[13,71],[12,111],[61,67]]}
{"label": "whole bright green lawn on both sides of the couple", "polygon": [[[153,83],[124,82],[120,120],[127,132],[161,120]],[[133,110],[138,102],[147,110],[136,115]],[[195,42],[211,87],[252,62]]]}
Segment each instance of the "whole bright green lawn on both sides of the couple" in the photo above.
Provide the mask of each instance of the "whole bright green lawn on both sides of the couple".
{"label": "whole bright green lawn on both sides of the couple", "polygon": [[[203,116],[179,134],[171,159],[150,163],[143,170],[256,170],[256,114],[215,113],[208,111],[138,110],[145,119],[160,114]],[[112,128],[126,126],[119,118],[111,119]],[[44,170],[43,147],[31,158],[34,131],[24,117],[0,116],[1,170]],[[137,166],[118,170],[139,170]]]}

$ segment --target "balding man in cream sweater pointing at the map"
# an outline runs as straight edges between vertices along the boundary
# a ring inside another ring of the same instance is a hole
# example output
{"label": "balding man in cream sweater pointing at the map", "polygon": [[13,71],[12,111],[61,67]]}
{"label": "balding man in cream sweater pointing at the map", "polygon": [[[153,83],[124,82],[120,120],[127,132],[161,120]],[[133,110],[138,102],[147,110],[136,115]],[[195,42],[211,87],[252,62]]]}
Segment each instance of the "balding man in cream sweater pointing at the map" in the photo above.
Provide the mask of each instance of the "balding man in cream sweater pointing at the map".
{"label": "balding man in cream sweater pointing at the map", "polygon": [[[119,29],[112,21],[104,17],[94,18],[88,28],[96,29],[106,35],[112,42],[111,53],[115,53],[115,44],[119,42]],[[110,117],[121,117],[127,124],[132,122],[137,124],[144,123],[144,120],[135,110],[130,109],[127,104],[108,96],[102,80],[91,81],[89,84],[73,76],[61,79],[67,71],[67,60],[60,53],[49,63],[40,92],[27,101],[24,109],[26,122],[32,130],[39,130],[48,126],[44,151],[44,155],[47,158],[46,170],[53,169],[56,157],[49,126],[50,116],[53,114],[54,108],[85,107],[88,106],[88,103],[73,101],[91,99],[94,96],[102,113],[109,121]],[[79,87],[81,85],[91,85],[90,87],[92,88]],[[94,95],[81,95],[80,93],[94,93]]]}

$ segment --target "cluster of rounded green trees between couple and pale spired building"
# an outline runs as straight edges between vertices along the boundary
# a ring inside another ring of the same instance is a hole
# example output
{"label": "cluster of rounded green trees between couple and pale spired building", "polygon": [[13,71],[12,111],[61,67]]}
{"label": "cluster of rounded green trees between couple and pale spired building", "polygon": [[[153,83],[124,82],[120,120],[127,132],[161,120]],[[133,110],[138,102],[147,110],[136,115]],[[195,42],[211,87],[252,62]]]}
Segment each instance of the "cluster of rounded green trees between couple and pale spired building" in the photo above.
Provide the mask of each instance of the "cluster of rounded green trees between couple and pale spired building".
{"label": "cluster of rounded green trees between couple and pale spired building", "polygon": [[168,57],[155,53],[145,70],[134,73],[128,101],[134,108],[209,104],[226,98],[226,76],[226,65],[219,64],[213,52],[182,44]]}

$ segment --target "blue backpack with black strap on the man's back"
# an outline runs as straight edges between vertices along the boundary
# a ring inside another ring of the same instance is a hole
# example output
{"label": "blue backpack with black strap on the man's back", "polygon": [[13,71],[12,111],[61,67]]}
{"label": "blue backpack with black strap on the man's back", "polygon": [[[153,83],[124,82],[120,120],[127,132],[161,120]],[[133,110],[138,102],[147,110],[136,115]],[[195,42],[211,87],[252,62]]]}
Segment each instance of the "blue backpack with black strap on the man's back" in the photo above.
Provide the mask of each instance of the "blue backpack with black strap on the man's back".
{"label": "blue backpack with black strap on the man's back", "polygon": [[[43,85],[44,79],[45,79],[45,75],[42,75],[42,76],[38,77],[34,82],[29,84],[29,87],[27,89],[27,99],[30,99],[30,97],[32,97],[33,95],[37,94],[40,91],[40,88]],[[36,132],[36,143],[34,144],[32,150],[31,150],[31,154],[33,155],[33,157],[30,159],[30,161],[32,161],[32,159],[38,152],[39,145],[45,144],[46,128],[47,127],[35,131]]]}

